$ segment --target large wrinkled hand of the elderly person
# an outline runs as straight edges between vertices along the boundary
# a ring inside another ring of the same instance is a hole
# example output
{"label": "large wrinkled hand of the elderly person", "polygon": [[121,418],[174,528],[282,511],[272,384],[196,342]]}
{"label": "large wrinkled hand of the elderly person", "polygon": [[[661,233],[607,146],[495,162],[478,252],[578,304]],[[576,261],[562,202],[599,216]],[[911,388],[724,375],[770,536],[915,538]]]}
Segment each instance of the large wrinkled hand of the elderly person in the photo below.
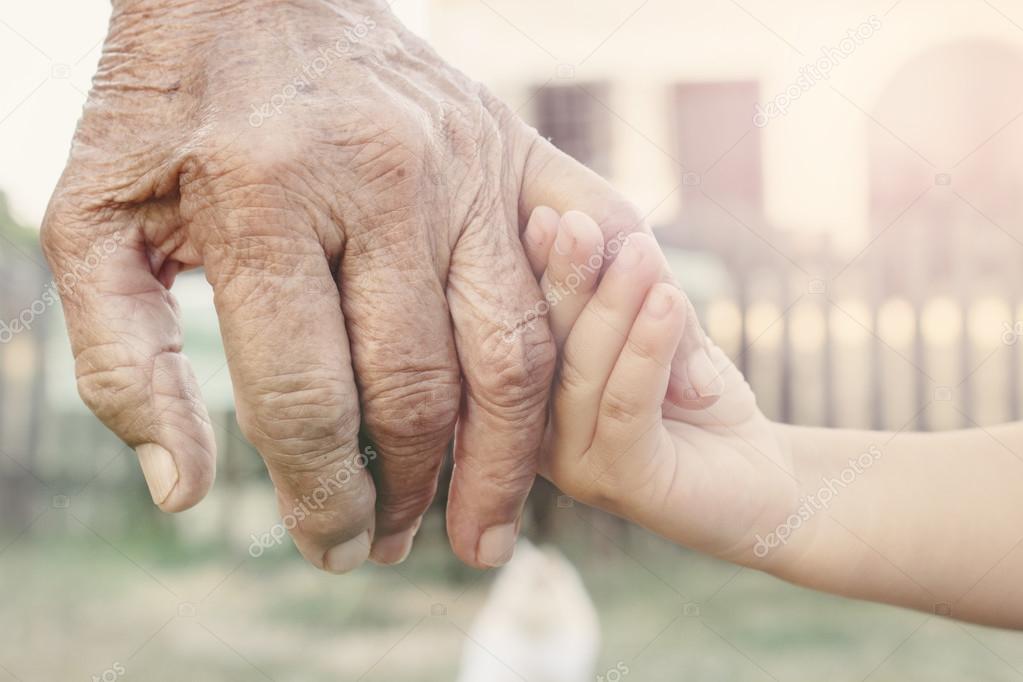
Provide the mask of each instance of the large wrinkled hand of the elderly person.
{"label": "large wrinkled hand of the elderly person", "polygon": [[[162,509],[214,480],[170,293],[203,267],[281,513],[353,468],[360,426],[379,454],[295,526],[302,554],[404,559],[454,437],[451,544],[487,567],[511,555],[547,415],[550,333],[518,324],[540,302],[520,231],[541,206],[525,238],[572,209],[649,232],[382,1],[115,0],[43,246],[58,280],[80,273],[62,303],[82,398]],[[699,407],[720,387],[690,317],[668,399]]]}

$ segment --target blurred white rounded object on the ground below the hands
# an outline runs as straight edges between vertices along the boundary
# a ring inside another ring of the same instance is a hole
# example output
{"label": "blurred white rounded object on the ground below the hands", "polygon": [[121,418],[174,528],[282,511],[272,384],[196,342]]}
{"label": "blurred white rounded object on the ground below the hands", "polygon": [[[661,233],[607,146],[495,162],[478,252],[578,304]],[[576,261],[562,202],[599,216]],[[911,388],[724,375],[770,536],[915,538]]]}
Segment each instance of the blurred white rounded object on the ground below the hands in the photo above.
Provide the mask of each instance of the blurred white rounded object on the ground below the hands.
{"label": "blurred white rounded object on the ground below the hands", "polygon": [[601,643],[579,573],[520,541],[466,639],[458,682],[591,682]]}

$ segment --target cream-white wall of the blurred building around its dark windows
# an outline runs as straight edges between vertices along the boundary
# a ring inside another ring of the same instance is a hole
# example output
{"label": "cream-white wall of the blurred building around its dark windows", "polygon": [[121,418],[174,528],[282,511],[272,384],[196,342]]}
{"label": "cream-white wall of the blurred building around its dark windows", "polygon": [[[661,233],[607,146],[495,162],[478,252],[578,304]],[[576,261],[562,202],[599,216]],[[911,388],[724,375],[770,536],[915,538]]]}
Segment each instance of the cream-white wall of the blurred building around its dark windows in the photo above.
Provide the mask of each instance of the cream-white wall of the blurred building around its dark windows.
{"label": "cream-white wall of the blurred building around its dark windows", "polygon": [[[762,98],[771,97],[822,47],[838,46],[850,29],[877,16],[880,31],[763,131],[768,219],[830,231],[855,249],[868,234],[865,136],[875,125],[863,110],[872,110],[888,79],[915,55],[953,41],[982,38],[1023,51],[1023,30],[1014,25],[1023,25],[1023,10],[1007,18],[985,3],[893,4],[433,0],[431,25],[445,56],[510,102],[522,101],[529,85],[567,73],[559,64],[570,64],[580,82],[612,81],[612,180],[647,208],[675,181],[657,149],[670,144],[669,84],[757,80]],[[1015,113],[1007,111],[1006,122]],[[655,220],[676,208],[666,202]]]}

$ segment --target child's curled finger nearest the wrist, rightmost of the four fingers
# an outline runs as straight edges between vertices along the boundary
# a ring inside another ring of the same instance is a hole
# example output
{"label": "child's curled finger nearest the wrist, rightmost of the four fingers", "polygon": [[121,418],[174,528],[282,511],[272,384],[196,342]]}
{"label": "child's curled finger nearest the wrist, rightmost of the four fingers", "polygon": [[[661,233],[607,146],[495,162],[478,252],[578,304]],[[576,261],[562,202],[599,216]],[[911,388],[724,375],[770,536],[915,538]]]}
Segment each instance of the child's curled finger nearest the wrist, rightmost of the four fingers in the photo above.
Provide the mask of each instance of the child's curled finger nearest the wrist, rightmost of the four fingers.
{"label": "child's curled finger nearest the wrist, rightmost of the four fingers", "polygon": [[671,358],[688,317],[686,299],[671,284],[654,285],[636,317],[601,399],[594,443],[617,457],[660,423]]}

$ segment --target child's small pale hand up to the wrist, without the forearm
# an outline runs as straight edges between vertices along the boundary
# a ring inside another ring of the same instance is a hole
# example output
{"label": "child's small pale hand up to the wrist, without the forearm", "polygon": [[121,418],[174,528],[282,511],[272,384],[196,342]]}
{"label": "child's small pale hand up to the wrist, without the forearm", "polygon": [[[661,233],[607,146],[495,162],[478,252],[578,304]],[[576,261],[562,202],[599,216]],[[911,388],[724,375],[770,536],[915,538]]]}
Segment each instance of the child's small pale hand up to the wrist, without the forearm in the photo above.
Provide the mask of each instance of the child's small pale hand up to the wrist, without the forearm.
{"label": "child's small pale hand up to the wrist, without the forearm", "polygon": [[601,232],[583,214],[561,218],[549,252],[536,246],[527,240],[534,269],[545,266],[541,285],[560,349],[541,473],[676,542],[758,562],[757,535],[798,503],[791,455],[716,347],[720,400],[703,410],[664,402],[692,307],[658,281],[654,238],[630,235],[603,278]]}

